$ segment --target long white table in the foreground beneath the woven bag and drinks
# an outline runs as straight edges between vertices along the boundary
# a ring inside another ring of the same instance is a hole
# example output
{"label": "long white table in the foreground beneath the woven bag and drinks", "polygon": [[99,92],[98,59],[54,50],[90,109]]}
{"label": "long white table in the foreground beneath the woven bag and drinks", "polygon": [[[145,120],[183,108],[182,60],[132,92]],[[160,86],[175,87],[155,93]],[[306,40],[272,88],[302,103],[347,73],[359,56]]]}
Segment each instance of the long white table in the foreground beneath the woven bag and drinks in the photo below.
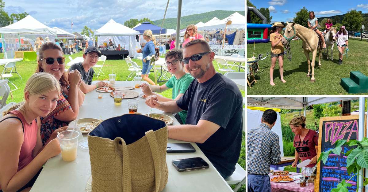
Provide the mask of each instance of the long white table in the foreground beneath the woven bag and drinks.
{"label": "long white table in the foreground beneath the woven bag and drinks", "polygon": [[[93,81],[92,84],[97,81]],[[116,87],[134,86],[134,81],[116,81]],[[134,89],[139,94],[142,93],[141,88]],[[145,104],[145,99],[138,97],[139,105],[138,112],[146,114],[149,111],[149,106]],[[85,101],[79,108],[78,118],[96,118],[107,119],[114,116],[120,116],[128,113],[127,100],[123,99],[121,105],[115,105],[114,99],[109,93],[103,93],[103,98],[98,99],[98,92],[91,91],[85,95]],[[158,109],[154,109],[152,113],[164,113]],[[173,125],[178,125],[178,121],[171,113],[164,113],[173,118]],[[87,134],[83,134],[84,140],[87,140]],[[169,139],[168,143],[177,143],[177,141]],[[204,155],[197,144],[190,142],[196,152],[194,153],[167,153],[166,163],[169,171],[169,178],[164,188],[164,192],[181,192],[181,191],[201,191],[201,192],[231,192],[230,186],[221,177],[213,164]],[[190,157],[202,157],[208,164],[208,169],[194,171],[177,171],[171,164],[172,160],[184,159]],[[85,192],[86,183],[91,175],[91,163],[89,160],[89,151],[83,151],[78,148],[77,159],[73,162],[64,162],[61,155],[50,158],[43,167],[38,176],[31,192],[49,191],[49,192],[64,192],[75,191]]]}

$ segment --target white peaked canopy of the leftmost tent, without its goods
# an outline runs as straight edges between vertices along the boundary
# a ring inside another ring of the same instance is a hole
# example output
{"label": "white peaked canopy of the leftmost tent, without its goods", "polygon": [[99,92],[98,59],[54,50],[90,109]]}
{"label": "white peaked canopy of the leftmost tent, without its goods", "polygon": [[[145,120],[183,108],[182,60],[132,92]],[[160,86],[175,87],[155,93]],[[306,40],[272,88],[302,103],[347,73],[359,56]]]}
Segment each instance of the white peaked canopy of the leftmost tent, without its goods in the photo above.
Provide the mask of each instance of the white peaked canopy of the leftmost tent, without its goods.
{"label": "white peaked canopy of the leftmost tent, without its goods", "polygon": [[[31,15],[5,27],[0,28],[0,33],[3,34],[3,47],[6,51],[4,57],[14,57],[14,51],[21,46],[21,37],[32,39],[31,44],[34,46],[37,37],[45,39],[49,37],[50,41],[56,38],[56,30],[52,29],[43,23],[37,21]],[[14,38],[18,39],[18,43]],[[24,39],[22,38],[22,39]],[[4,40],[5,39],[5,40]]]}

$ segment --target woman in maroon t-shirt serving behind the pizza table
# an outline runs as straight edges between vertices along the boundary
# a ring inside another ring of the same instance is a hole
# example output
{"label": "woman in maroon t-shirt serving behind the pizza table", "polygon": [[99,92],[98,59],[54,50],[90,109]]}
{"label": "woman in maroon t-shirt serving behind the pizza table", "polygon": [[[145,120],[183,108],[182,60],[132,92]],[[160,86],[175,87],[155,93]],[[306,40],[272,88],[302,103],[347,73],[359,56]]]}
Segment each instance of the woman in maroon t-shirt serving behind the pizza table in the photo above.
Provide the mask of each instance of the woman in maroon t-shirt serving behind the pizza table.
{"label": "woman in maroon t-shirt serving behind the pizza table", "polygon": [[305,127],[305,117],[295,117],[291,119],[289,125],[295,134],[295,161],[293,167],[297,165],[299,158],[301,161],[310,159],[311,162],[302,168],[302,173],[312,173],[317,162],[317,152],[315,146],[318,145],[318,133]]}

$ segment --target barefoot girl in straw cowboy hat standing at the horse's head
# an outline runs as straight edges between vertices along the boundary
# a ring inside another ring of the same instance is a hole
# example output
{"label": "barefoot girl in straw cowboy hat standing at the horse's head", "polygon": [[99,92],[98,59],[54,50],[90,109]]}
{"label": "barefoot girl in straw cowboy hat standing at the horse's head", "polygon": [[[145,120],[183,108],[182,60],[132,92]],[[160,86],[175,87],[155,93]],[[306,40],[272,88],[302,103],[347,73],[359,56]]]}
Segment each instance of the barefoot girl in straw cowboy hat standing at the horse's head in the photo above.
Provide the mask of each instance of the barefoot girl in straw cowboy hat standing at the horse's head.
{"label": "barefoot girl in straw cowboy hat standing at the horse's head", "polygon": [[271,41],[270,84],[272,86],[275,85],[275,83],[273,83],[273,70],[275,69],[276,60],[279,60],[280,79],[283,83],[286,83],[283,77],[284,54],[286,52],[284,52],[284,45],[282,44],[282,40],[284,40],[285,38],[283,37],[282,34],[279,33],[284,27],[285,26],[280,22],[275,22],[272,25],[273,33],[271,33],[270,35]]}

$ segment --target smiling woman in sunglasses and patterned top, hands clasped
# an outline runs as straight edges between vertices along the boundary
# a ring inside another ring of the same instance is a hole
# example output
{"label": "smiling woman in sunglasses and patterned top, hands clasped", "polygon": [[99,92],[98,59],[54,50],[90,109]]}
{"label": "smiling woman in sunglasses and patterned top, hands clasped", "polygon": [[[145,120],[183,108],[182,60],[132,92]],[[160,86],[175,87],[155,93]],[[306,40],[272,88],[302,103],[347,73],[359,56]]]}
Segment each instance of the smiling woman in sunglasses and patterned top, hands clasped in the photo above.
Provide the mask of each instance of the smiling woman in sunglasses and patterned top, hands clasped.
{"label": "smiling woman in sunglasses and patterned top, hands clasped", "polygon": [[65,72],[65,57],[60,46],[52,42],[44,43],[38,55],[36,73],[51,73],[61,85],[56,108],[49,115],[41,117],[41,138],[42,144],[45,145],[54,130],[68,126],[69,122],[77,118],[79,106],[84,101],[84,93],[79,89],[82,79],[78,70]]}

